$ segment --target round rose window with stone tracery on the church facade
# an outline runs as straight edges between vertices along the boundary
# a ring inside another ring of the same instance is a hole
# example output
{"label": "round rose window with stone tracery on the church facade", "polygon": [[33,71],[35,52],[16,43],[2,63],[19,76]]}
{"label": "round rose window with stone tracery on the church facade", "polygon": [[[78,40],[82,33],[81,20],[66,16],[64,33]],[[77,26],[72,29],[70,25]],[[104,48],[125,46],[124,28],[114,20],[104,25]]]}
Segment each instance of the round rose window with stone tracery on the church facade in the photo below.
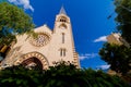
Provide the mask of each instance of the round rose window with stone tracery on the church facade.
{"label": "round rose window with stone tracery on the church facade", "polygon": [[43,47],[47,45],[50,40],[50,37],[47,34],[39,33],[36,38],[31,38],[31,44],[37,47]]}

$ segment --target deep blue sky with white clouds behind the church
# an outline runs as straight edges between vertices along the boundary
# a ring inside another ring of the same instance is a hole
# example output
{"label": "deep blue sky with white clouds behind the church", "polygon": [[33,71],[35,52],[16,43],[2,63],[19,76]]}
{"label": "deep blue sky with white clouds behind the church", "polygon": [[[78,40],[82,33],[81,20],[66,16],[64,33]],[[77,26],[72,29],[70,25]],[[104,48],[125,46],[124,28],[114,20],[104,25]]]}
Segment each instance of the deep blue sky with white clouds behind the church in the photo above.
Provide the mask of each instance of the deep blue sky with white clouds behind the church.
{"label": "deep blue sky with white clouds behind the church", "polygon": [[63,5],[71,18],[75,49],[80,54],[82,67],[105,69],[98,50],[106,36],[116,28],[112,0],[9,0],[23,7],[33,17],[36,27],[47,24],[53,28],[56,15]]}

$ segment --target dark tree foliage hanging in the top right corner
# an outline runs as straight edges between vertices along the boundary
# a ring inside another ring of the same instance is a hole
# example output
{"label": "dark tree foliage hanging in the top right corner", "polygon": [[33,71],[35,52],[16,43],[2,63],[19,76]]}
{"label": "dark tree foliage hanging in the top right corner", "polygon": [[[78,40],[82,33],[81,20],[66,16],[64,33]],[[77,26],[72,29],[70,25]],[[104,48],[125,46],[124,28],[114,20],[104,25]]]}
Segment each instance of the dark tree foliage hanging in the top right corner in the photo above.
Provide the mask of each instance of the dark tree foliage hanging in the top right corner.
{"label": "dark tree foliage hanging in the top right corner", "polygon": [[115,0],[116,22],[122,37],[131,44],[131,0]]}

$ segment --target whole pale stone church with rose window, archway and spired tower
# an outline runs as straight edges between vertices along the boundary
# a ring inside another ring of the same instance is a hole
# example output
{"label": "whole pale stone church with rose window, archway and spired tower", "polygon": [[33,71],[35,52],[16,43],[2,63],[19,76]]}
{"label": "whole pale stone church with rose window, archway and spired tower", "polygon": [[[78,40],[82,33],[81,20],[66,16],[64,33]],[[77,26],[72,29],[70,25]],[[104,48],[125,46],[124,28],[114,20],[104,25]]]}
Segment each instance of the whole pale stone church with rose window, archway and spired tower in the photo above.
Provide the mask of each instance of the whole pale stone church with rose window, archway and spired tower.
{"label": "whole pale stone church with rose window, archway and spired tower", "polygon": [[75,52],[70,17],[63,8],[56,16],[55,27],[51,30],[47,25],[34,29],[37,38],[26,34],[16,36],[16,44],[11,48],[1,66],[23,64],[38,65],[45,70],[55,62],[70,61],[80,67],[79,54]]}

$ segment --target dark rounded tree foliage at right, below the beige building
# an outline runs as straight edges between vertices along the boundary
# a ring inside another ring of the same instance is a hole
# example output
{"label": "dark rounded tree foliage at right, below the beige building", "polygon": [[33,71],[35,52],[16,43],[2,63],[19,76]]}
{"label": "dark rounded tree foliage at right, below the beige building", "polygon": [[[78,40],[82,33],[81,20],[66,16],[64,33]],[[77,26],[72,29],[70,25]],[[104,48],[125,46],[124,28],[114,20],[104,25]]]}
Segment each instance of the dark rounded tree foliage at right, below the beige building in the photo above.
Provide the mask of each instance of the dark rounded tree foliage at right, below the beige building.
{"label": "dark rounded tree foliage at right, below the beige building", "polygon": [[99,54],[117,73],[127,74],[131,70],[131,49],[126,46],[105,44]]}

